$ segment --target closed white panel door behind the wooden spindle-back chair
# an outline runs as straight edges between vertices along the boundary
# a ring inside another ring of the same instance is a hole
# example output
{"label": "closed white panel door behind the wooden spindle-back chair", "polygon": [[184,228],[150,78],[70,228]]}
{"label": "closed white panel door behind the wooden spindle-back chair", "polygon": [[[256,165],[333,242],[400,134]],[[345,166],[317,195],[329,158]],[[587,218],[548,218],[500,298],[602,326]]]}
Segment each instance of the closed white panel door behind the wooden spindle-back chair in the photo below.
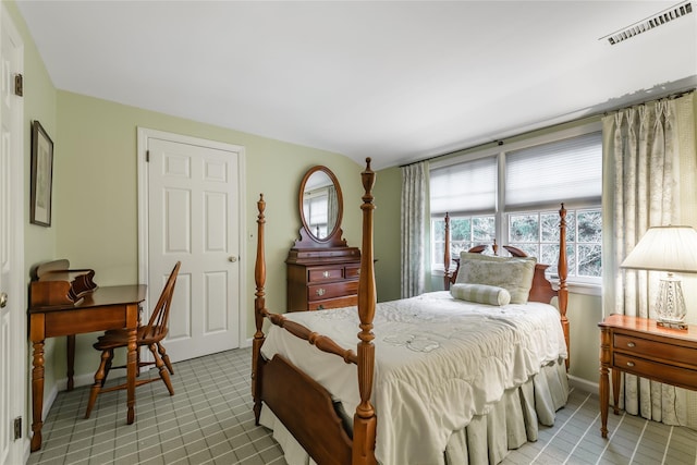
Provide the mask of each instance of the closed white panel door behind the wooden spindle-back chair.
{"label": "closed white panel door behind the wooden spindle-back chair", "polygon": [[164,347],[172,362],[240,346],[235,151],[148,138],[148,294],[182,268]]}

